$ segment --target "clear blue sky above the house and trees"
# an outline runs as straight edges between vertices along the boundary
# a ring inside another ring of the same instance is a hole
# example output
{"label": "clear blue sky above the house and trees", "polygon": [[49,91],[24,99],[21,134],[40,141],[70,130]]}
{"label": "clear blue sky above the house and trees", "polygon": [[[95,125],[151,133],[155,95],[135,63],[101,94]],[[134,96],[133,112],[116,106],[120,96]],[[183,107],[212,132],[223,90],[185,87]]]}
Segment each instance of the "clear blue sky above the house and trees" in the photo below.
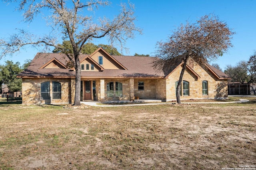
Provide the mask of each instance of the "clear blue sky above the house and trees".
{"label": "clear blue sky above the house and trees", "polygon": [[[120,2],[128,2],[128,0],[109,1],[112,5],[106,8],[100,7],[95,11],[94,16],[112,18],[118,14]],[[134,39],[128,39],[125,47],[129,51],[121,51],[123,55],[133,56],[138,53],[154,56],[156,43],[167,41],[181,23],[185,24],[186,21],[195,23],[202,16],[210,13],[218,16],[236,32],[231,41],[233,47],[210,64],[217,63],[224,70],[228,64],[235,66],[239,61],[248,61],[256,50],[256,0],[130,0],[130,2],[135,5],[134,23],[136,27],[143,29],[143,34],[136,33]],[[10,35],[17,33],[16,28],[26,29],[38,35],[49,33],[50,28],[42,17],[38,16],[32,23],[24,23],[22,13],[15,11],[15,7],[17,4],[7,5],[0,1],[0,16],[2,16],[0,39],[8,39]],[[108,44],[108,41],[102,38],[92,43]],[[25,47],[12,57],[6,56],[0,59],[0,64],[4,64],[7,60],[23,64],[26,59],[33,59],[38,52],[41,52],[40,49]]]}

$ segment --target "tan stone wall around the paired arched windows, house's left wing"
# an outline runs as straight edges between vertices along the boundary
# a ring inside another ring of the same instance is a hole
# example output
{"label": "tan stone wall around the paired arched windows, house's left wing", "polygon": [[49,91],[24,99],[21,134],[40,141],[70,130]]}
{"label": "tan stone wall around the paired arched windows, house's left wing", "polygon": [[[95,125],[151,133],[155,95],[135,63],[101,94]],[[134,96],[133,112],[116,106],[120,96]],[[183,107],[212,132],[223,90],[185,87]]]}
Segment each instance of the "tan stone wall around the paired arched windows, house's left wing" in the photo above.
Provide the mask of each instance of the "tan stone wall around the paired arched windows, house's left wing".
{"label": "tan stone wall around the paired arched windows, house's left wing", "polygon": [[[50,81],[50,100],[41,99],[41,83]],[[52,81],[61,84],[61,99],[52,99]],[[70,78],[22,78],[22,104],[68,104],[71,103]],[[74,102],[74,101],[73,101]]]}

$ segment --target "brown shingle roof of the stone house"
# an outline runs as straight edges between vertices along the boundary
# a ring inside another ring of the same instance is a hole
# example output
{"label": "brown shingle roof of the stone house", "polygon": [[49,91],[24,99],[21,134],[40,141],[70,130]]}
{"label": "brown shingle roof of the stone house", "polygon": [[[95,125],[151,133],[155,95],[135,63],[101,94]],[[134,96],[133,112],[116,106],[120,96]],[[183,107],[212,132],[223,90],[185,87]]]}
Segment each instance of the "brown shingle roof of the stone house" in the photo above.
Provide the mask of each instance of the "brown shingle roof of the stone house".
{"label": "brown shingle roof of the stone house", "polygon": [[[83,59],[88,55],[80,55]],[[112,56],[116,61],[122,64],[127,70],[104,69],[103,71],[82,71],[81,77],[143,77],[143,78],[164,78],[166,75],[163,71],[155,70],[153,67],[154,57],[137,57],[137,56]],[[75,77],[75,71],[66,68],[41,68],[51,59],[57,59],[62,64],[66,64],[68,58],[65,54],[60,53],[37,53],[32,60],[30,66],[18,77]],[[209,65],[210,70],[218,76],[218,78],[228,78],[224,72]]]}

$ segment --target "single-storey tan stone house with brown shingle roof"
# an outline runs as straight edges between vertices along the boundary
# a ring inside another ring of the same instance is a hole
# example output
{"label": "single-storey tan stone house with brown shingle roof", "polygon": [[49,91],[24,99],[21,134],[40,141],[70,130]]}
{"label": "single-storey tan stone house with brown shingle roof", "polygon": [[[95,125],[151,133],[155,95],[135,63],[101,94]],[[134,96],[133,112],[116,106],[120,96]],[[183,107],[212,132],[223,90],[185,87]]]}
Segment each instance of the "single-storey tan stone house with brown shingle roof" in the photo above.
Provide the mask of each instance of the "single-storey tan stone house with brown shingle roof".
{"label": "single-storey tan stone house with brown shingle roof", "polygon": [[[37,53],[22,78],[23,104],[74,104],[75,70],[60,53]],[[80,55],[81,101],[160,99],[176,100],[180,63],[168,74],[156,71],[154,57],[112,56],[99,48]],[[208,65],[190,63],[183,77],[181,99],[227,98],[228,76]]]}

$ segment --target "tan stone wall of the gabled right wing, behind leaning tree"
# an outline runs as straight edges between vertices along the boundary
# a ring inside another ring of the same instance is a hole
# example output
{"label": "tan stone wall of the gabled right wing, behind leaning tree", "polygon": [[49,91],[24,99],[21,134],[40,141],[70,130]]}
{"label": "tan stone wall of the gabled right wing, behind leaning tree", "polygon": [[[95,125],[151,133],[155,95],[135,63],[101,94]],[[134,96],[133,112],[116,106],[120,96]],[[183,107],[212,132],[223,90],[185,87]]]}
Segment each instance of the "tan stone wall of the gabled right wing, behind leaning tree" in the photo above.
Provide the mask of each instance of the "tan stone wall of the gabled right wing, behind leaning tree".
{"label": "tan stone wall of the gabled right wing, behind leaning tree", "polygon": [[[192,69],[198,74],[196,76],[189,69],[186,69],[183,81],[189,82],[189,96],[182,95],[180,99],[202,99],[202,98],[227,98],[227,80],[218,80],[209,70],[203,69],[200,65],[194,64]],[[166,100],[176,100],[176,82],[179,80],[182,67],[178,67],[166,80]],[[202,94],[202,82],[208,81],[208,95]]]}

